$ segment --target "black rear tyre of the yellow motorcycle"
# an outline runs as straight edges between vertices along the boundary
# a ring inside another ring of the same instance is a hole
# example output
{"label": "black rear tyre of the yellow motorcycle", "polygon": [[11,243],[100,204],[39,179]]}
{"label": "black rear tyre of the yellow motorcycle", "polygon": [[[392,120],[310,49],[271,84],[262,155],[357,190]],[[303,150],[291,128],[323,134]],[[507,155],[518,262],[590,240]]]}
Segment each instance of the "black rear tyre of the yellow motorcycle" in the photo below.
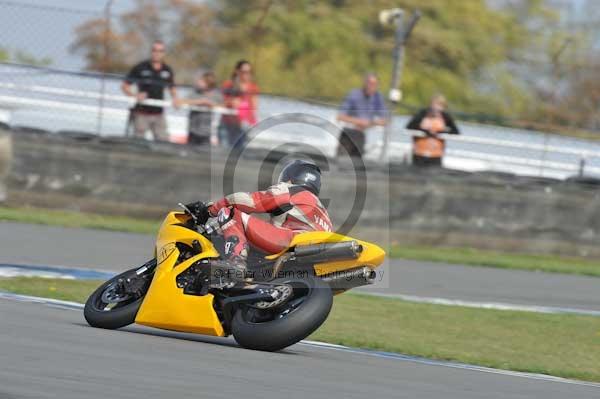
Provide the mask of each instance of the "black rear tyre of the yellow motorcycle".
{"label": "black rear tyre of the yellow motorcycle", "polygon": [[290,285],[293,296],[268,311],[251,306],[238,309],[231,332],[244,348],[274,352],[293,345],[319,328],[331,311],[333,293],[319,278],[281,278],[272,283]]}

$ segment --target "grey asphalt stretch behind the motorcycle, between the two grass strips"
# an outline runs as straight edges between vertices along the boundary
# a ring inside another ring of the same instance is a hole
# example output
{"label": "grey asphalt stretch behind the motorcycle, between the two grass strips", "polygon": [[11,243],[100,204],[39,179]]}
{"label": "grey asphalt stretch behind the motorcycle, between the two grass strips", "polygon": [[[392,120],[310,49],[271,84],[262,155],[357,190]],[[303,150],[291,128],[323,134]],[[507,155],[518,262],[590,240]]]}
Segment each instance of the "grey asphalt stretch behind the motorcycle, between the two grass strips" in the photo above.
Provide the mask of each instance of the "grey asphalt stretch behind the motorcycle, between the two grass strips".
{"label": "grey asphalt stretch behind the motorcycle, between the two grass strips", "polygon": [[[0,223],[0,263],[121,271],[152,256],[154,237],[54,226]],[[373,288],[405,294],[516,305],[600,310],[600,278],[389,260]]]}

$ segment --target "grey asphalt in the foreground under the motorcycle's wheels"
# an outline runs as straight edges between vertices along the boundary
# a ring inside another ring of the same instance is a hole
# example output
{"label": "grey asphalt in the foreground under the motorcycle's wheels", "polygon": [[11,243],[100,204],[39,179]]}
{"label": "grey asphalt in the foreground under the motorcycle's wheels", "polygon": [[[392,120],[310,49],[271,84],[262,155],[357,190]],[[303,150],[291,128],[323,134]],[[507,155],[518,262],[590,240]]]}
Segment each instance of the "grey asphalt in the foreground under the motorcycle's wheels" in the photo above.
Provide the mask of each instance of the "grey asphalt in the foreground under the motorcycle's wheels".
{"label": "grey asphalt in the foreground under the motorcycle's wheels", "polygon": [[81,311],[0,299],[0,398],[597,398],[600,388],[297,344],[87,326]]}

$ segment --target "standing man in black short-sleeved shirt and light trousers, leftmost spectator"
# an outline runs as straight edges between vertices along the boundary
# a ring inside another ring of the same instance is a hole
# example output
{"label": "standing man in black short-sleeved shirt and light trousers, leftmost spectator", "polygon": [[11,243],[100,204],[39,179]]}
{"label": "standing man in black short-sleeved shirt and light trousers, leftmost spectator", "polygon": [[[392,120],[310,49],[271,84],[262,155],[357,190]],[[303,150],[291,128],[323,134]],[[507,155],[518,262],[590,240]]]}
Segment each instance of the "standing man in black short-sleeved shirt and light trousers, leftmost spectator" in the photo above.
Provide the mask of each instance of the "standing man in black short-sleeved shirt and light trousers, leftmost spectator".
{"label": "standing man in black short-sleeved shirt and light trousers, leftmost spectator", "polygon": [[[144,137],[146,130],[150,130],[154,140],[169,139],[163,107],[142,103],[146,99],[163,100],[165,88],[169,89],[174,104],[177,103],[175,76],[171,67],[164,63],[164,58],[165,44],[157,40],[152,43],[151,58],[134,66],[121,86],[123,93],[137,99],[131,110],[133,130],[137,137]],[[132,85],[137,87],[136,92],[132,90]]]}

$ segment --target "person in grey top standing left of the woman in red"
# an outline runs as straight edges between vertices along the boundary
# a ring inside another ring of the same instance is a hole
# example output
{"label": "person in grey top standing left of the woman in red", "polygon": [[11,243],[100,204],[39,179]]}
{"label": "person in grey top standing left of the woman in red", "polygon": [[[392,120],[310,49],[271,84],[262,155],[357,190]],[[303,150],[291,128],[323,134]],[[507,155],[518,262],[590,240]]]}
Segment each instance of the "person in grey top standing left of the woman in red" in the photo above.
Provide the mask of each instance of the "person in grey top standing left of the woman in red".
{"label": "person in grey top standing left of the woman in red", "polygon": [[192,105],[204,107],[204,110],[190,111],[188,120],[188,144],[208,144],[214,138],[217,144],[217,136],[213,134],[213,118],[220,118],[210,108],[223,105],[223,94],[217,88],[217,79],[213,72],[204,72],[196,81],[194,94],[188,99],[179,99],[178,105]]}

